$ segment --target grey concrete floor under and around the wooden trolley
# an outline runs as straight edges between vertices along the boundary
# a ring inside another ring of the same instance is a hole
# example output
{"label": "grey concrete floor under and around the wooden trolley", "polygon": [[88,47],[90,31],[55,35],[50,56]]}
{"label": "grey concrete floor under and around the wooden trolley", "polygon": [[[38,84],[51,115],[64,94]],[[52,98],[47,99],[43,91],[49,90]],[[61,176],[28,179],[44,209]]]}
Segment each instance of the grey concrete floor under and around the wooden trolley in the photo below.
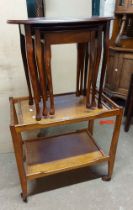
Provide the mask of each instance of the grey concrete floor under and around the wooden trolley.
{"label": "grey concrete floor under and around the wooden trolley", "polygon": [[[95,123],[94,136],[107,152],[113,125],[101,125],[100,122]],[[78,124],[76,128],[84,126],[86,124]],[[69,128],[47,130],[47,135],[64,129]],[[75,126],[71,126],[72,129]],[[133,125],[128,133],[121,126],[110,182],[103,182],[100,178],[106,170],[106,164],[98,165],[32,181],[29,183],[28,203],[23,203],[14,154],[0,154],[0,210],[132,210]]]}

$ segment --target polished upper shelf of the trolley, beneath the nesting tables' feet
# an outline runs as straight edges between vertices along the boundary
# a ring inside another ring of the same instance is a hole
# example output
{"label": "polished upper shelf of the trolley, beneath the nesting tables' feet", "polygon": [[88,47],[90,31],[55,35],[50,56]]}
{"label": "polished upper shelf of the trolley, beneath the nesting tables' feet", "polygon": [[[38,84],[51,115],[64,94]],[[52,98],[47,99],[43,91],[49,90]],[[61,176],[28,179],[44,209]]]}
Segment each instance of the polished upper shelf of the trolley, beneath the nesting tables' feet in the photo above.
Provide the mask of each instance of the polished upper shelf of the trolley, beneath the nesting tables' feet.
{"label": "polished upper shelf of the trolley, beneath the nesting tables' feet", "polygon": [[[113,115],[114,112],[111,109],[112,104],[106,102],[105,98],[104,101],[105,102],[102,103],[102,109],[87,109],[85,106],[85,97],[83,96],[80,98],[77,98],[75,94],[57,96],[55,97],[56,114],[54,116],[48,115],[47,118],[44,117],[41,121],[37,122],[35,119],[35,106],[29,106],[27,100],[18,100],[16,103],[16,110],[18,113],[19,125],[16,125],[16,129],[32,129],[33,126],[36,128],[51,127],[57,124],[69,124],[93,118],[100,118],[102,116],[104,117],[105,114],[108,116]],[[119,112],[119,108],[115,106],[114,111]],[[30,127],[30,125],[32,126]]]}

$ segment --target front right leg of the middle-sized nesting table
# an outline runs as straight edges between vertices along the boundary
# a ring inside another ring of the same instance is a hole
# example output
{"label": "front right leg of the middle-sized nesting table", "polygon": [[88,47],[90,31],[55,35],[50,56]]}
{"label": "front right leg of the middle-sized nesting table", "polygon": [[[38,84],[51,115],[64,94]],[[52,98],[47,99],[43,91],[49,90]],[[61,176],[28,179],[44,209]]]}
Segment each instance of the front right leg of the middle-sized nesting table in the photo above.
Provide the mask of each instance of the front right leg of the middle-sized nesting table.
{"label": "front right leg of the middle-sized nesting table", "polygon": [[102,52],[102,31],[98,31],[95,34],[95,55],[94,55],[94,69],[92,72],[92,102],[91,102],[91,108],[96,108],[96,83],[97,83],[97,77],[98,77],[98,70],[99,70],[99,64],[101,60],[101,52]]}

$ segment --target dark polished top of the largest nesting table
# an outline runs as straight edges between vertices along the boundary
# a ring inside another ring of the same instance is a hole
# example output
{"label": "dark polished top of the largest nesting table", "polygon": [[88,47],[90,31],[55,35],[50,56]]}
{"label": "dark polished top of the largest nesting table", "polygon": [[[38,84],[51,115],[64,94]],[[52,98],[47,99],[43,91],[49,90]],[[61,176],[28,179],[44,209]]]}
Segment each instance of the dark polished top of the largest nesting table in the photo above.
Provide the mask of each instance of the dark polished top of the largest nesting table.
{"label": "dark polished top of the largest nesting table", "polygon": [[89,23],[104,23],[107,21],[113,20],[113,17],[63,17],[63,18],[46,18],[46,17],[39,17],[39,18],[28,18],[23,20],[8,20],[7,23],[9,24],[43,24],[46,26],[60,26],[60,25],[78,25],[78,24],[89,24]]}

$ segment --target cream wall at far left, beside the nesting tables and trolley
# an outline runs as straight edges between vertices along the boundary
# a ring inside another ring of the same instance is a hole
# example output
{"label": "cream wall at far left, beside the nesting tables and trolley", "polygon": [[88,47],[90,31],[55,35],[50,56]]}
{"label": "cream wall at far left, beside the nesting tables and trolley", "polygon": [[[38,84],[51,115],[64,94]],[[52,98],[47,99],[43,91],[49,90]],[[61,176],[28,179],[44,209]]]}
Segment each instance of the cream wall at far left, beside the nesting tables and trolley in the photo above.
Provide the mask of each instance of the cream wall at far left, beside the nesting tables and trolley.
{"label": "cream wall at far left, beside the nesting tables and trolley", "polygon": [[7,19],[25,18],[24,0],[0,1],[0,153],[12,151],[9,96],[27,94],[19,49],[18,27]]}

